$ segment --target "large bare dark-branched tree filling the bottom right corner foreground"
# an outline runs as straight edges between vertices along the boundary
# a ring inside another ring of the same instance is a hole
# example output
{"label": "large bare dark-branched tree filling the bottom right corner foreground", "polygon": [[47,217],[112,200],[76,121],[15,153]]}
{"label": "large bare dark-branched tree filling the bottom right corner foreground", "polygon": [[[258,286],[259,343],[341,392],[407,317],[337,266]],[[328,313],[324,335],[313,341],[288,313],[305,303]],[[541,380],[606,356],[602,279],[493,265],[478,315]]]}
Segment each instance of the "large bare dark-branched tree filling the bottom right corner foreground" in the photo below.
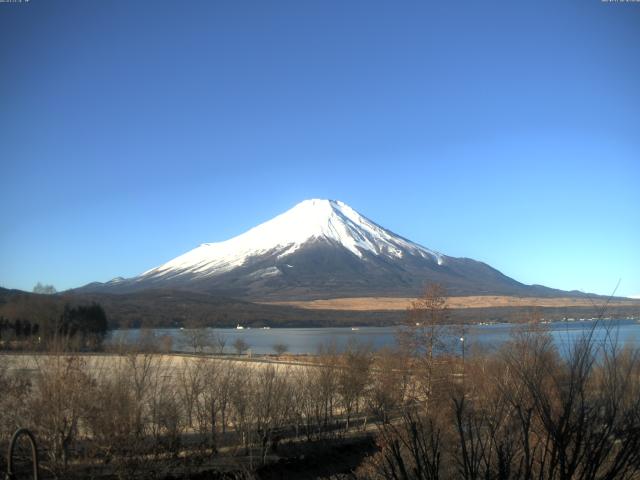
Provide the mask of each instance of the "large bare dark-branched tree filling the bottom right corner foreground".
{"label": "large bare dark-branched tree filling the bottom right corner foreground", "polygon": [[544,478],[630,478],[640,461],[640,353],[608,335],[596,342],[594,332],[595,325],[566,359],[536,344],[528,364],[508,358],[531,399]]}

